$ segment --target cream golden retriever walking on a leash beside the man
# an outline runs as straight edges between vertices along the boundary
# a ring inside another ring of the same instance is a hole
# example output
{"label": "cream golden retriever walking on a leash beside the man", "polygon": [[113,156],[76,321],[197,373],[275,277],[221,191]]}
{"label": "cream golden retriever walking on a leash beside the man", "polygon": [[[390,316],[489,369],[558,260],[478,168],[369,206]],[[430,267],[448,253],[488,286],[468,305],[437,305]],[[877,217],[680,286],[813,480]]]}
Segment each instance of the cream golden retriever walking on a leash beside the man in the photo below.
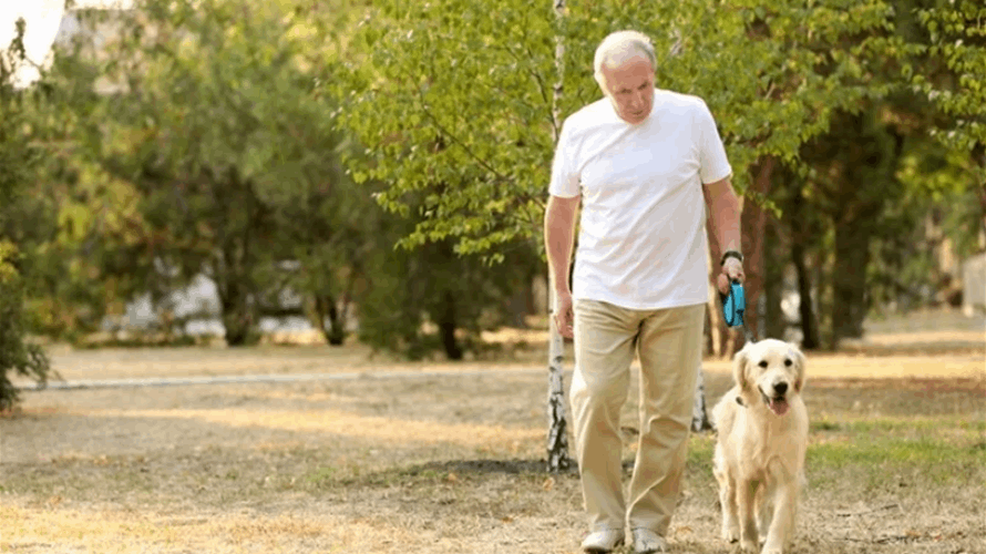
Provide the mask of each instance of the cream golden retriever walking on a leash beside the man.
{"label": "cream golden retriever walking on a leash beside the man", "polygon": [[736,387],[712,409],[722,537],[756,552],[766,535],[762,554],[782,554],[804,481],[804,355],[781,340],[749,342],[732,372]]}

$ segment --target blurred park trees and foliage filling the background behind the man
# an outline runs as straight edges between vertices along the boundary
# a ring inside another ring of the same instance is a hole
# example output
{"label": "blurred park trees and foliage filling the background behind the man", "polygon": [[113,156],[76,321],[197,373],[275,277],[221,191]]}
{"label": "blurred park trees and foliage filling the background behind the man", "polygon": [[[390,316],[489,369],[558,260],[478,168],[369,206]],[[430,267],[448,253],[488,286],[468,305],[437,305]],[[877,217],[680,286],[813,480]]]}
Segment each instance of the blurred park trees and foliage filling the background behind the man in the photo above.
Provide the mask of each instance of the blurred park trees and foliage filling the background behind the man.
{"label": "blurred park trees and foliage filling the background behind the man", "polygon": [[[2,369],[41,376],[54,343],[455,360],[546,340],[553,144],[626,28],[653,37],[657,85],[717,119],[761,336],[834,350],[929,310],[980,329],[984,10],[6,2]],[[726,356],[741,337],[717,316]]]}

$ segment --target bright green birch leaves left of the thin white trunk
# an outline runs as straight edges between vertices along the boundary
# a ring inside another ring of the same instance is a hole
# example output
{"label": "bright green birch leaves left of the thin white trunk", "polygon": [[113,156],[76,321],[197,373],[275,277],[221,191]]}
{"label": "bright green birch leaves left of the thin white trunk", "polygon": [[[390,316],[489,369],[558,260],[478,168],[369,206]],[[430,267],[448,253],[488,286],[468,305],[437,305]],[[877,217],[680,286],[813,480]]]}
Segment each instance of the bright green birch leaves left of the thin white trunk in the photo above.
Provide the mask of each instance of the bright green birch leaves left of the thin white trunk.
{"label": "bright green birch leaves left of the thin white trunk", "polygon": [[343,123],[369,155],[353,164],[355,178],[386,183],[378,202],[421,218],[407,246],[461,237],[459,252],[486,252],[530,235],[540,217],[551,22],[527,6],[490,10],[374,6],[355,39],[372,54],[338,85],[351,94]]}

